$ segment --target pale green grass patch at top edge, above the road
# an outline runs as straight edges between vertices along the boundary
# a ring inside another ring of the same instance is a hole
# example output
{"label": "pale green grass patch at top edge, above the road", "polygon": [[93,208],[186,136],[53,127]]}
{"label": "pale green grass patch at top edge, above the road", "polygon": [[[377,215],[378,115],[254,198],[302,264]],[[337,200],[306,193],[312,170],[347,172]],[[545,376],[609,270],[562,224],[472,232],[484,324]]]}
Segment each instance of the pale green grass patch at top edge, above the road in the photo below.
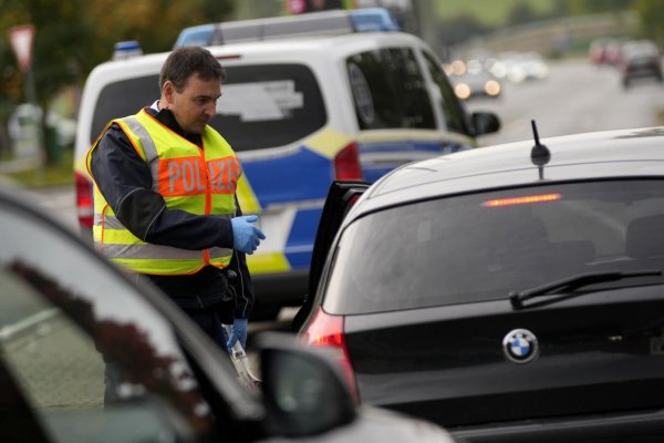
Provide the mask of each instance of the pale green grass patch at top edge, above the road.
{"label": "pale green grass patch at top edge, above the road", "polygon": [[459,16],[473,16],[484,24],[499,27],[507,21],[516,4],[527,2],[533,11],[549,12],[554,0],[444,0],[436,1],[436,13],[440,20]]}

